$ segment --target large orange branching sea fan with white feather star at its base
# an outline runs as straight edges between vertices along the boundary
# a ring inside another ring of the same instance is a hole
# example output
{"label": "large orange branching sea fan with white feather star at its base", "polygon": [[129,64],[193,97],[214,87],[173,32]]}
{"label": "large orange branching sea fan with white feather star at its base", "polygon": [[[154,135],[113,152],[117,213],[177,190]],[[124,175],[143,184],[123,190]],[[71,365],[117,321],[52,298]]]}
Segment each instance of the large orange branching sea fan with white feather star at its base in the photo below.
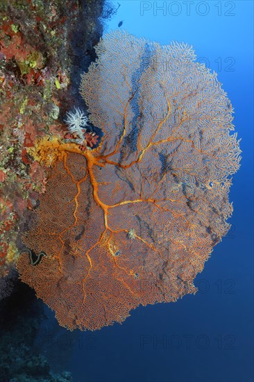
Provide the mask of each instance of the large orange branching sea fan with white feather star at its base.
{"label": "large orange branching sea fan with white feather star at its base", "polygon": [[71,330],[196,292],[230,227],[239,168],[232,106],[192,47],[117,31],[96,54],[81,80],[88,118],[74,108],[64,138],[29,149],[50,174],[17,260],[22,281]]}

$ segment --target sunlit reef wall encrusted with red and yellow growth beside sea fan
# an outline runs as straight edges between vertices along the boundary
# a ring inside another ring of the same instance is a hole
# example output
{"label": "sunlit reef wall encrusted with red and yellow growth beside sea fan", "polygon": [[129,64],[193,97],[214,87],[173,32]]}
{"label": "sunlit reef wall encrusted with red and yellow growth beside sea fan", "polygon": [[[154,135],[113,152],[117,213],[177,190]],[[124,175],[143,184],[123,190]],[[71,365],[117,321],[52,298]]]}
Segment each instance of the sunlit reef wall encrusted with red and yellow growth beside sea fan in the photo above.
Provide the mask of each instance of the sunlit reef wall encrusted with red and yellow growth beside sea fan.
{"label": "sunlit reef wall encrusted with red and yellow growth beside sea fan", "polygon": [[0,276],[17,260],[27,211],[45,190],[47,168],[29,150],[39,137],[61,139],[67,132],[63,116],[79,97],[77,84],[94,59],[101,20],[114,13],[114,6],[103,4],[1,2]]}

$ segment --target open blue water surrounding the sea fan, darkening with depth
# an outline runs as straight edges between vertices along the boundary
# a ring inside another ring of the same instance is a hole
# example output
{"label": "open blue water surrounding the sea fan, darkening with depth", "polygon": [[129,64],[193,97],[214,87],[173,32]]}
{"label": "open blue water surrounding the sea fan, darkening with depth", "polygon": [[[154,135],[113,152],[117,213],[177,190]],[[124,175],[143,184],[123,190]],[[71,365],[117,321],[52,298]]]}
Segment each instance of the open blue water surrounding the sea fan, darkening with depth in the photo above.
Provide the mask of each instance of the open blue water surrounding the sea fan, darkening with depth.
{"label": "open blue water surrounding the sea fan, darkening with depth", "polygon": [[[124,20],[133,35],[191,44],[228,92],[243,151],[230,190],[232,229],[196,278],[196,295],[137,308],[124,324],[92,333],[56,325],[53,366],[74,382],[252,382],[253,2],[190,1],[189,15],[185,1],[164,1],[157,15],[163,1],[117,2],[108,31]],[[142,15],[142,7],[151,9]]]}

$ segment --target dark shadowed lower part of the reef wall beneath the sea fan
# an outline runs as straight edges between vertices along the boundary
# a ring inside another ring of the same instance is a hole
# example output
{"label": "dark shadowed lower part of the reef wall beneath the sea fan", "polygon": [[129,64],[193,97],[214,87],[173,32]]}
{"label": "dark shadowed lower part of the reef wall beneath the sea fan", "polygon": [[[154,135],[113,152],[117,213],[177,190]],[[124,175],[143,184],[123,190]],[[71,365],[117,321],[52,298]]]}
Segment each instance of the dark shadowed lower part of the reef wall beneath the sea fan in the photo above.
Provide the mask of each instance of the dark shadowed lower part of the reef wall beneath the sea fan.
{"label": "dark shadowed lower part of the reef wall beneath the sea fan", "polygon": [[44,307],[33,290],[15,279],[10,297],[0,303],[1,382],[71,382],[69,372],[53,376],[49,361],[33,343],[44,320]]}

